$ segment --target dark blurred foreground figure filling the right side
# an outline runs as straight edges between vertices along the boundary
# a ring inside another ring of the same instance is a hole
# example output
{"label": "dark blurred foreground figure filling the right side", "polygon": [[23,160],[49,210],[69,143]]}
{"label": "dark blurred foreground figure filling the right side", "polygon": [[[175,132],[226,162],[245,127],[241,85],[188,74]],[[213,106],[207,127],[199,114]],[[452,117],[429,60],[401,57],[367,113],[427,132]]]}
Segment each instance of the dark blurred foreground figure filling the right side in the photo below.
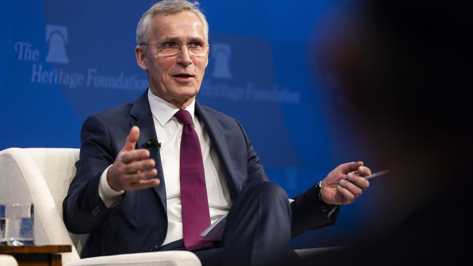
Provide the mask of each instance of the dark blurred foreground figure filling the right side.
{"label": "dark blurred foreground figure filling the right side", "polygon": [[404,246],[401,258],[443,259],[436,252],[451,251],[445,245],[470,232],[471,9],[459,1],[348,5],[325,21],[319,70],[339,84],[330,91],[334,109],[391,171],[372,181],[387,192],[379,216],[392,237],[384,240]]}

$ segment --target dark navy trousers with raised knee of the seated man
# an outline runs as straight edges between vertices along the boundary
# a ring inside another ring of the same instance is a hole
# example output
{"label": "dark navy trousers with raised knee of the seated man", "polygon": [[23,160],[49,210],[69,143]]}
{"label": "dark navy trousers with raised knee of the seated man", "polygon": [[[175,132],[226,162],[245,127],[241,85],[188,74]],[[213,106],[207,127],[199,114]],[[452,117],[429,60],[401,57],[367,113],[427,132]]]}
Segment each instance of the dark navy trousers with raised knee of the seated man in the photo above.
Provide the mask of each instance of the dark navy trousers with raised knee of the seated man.
{"label": "dark navy trousers with raised knee of the seated man", "polygon": [[[290,265],[291,206],[286,192],[271,182],[252,182],[234,200],[225,233],[215,247],[193,251],[203,266]],[[185,250],[182,239],[158,251]]]}

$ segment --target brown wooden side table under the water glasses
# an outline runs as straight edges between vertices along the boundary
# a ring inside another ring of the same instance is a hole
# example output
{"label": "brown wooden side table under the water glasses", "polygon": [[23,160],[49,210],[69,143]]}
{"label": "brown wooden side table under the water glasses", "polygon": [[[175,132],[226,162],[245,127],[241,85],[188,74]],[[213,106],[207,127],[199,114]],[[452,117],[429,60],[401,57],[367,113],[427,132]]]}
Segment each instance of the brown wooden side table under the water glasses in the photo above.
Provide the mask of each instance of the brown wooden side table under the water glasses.
{"label": "brown wooden side table under the water glasses", "polygon": [[70,245],[0,246],[0,254],[15,257],[19,266],[62,266],[62,257],[59,253],[71,251]]}

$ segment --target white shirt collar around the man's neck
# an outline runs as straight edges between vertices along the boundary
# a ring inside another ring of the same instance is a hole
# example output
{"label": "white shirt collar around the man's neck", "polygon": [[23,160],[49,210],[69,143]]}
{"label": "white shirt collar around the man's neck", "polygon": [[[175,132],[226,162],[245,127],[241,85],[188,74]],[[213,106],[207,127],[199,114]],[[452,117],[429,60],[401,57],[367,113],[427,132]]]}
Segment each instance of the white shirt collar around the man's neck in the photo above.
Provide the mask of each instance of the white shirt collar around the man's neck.
{"label": "white shirt collar around the man's neck", "polygon": [[[164,127],[168,123],[170,119],[175,119],[174,114],[179,111],[180,109],[177,108],[174,104],[161,99],[154,95],[151,92],[151,89],[148,88],[148,101],[149,107],[151,109],[151,113],[153,116],[158,120],[161,127]],[[192,122],[195,124],[194,119],[194,111],[196,107],[196,99],[194,99],[189,106],[187,106],[184,110],[187,110],[192,116]]]}

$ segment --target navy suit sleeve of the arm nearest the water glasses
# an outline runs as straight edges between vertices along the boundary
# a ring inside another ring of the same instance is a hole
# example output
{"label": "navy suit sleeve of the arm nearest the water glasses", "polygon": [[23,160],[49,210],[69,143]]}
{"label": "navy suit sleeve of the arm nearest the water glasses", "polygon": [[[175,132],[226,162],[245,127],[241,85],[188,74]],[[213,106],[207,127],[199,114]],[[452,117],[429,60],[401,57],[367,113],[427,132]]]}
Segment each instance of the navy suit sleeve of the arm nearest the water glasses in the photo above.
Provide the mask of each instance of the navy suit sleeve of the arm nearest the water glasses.
{"label": "navy suit sleeve of the arm nearest the water glasses", "polygon": [[101,228],[113,208],[107,208],[99,196],[102,172],[114,161],[110,136],[98,116],[84,122],[77,172],[63,201],[63,220],[71,233],[83,234]]}

